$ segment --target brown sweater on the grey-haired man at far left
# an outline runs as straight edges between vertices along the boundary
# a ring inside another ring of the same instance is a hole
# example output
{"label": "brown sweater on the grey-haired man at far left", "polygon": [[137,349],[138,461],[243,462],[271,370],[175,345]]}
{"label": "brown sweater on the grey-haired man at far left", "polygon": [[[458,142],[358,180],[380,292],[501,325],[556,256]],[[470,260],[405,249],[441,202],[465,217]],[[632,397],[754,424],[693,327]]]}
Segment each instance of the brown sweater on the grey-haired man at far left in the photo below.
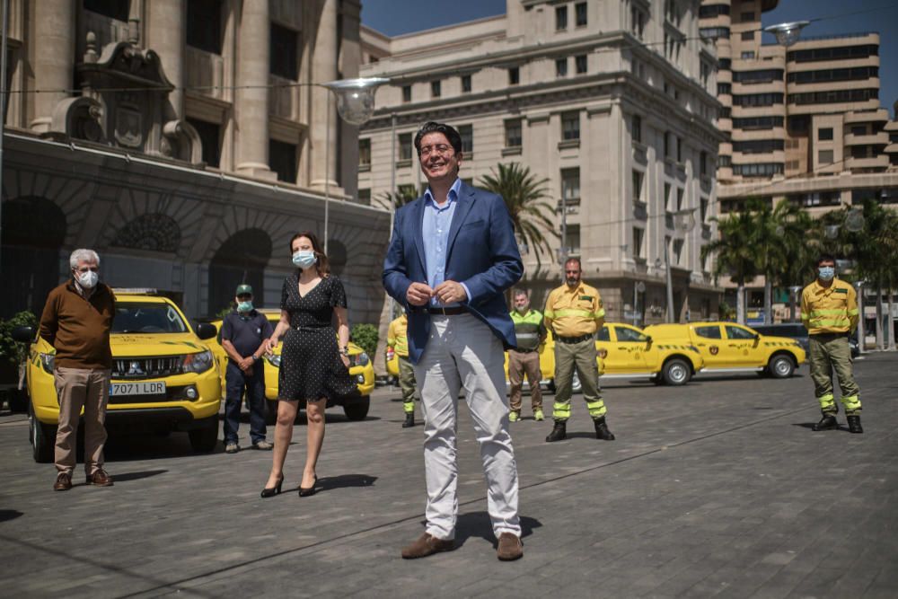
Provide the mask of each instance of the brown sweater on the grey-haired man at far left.
{"label": "brown sweater on the grey-haired man at far left", "polygon": [[56,348],[56,366],[111,368],[114,317],[115,295],[108,286],[99,284],[89,298],[84,298],[75,281],[69,280],[47,296],[40,316],[40,336]]}

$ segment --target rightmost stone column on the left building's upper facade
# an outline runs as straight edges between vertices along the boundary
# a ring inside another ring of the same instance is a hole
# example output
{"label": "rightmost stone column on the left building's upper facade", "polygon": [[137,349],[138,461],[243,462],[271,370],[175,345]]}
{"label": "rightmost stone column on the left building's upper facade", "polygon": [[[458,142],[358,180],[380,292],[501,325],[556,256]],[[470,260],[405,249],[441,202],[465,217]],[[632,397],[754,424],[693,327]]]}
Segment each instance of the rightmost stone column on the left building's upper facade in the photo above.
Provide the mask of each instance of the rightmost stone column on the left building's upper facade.
{"label": "rightmost stone column on the left building's upper facade", "polygon": [[[337,0],[320,0],[321,18],[315,31],[312,59],[312,81],[326,84],[337,79]],[[312,118],[312,187],[323,190],[330,180],[330,193],[337,187],[337,101],[333,92],[322,87],[313,88]],[[330,119],[328,103],[330,102]],[[329,131],[330,129],[330,131]],[[326,147],[330,134],[330,147]],[[330,163],[326,156],[330,154]],[[325,172],[326,171],[326,172]]]}

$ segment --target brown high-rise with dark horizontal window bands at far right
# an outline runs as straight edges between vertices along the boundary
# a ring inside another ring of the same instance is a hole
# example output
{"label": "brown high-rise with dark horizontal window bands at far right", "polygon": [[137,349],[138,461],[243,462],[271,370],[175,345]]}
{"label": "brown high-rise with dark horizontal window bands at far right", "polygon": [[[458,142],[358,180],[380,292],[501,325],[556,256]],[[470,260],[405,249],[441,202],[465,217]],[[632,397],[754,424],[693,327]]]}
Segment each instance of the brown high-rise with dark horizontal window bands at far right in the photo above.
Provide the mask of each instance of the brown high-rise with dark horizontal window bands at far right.
{"label": "brown high-rise with dark horizontal window bands at far right", "polygon": [[[898,207],[898,160],[879,98],[879,34],[762,40],[778,0],[702,0],[700,34],[718,54],[720,212],[748,198],[788,201],[812,216],[867,198]],[[894,144],[894,142],[893,142]],[[890,163],[890,155],[891,163]],[[749,304],[763,304],[763,279]]]}

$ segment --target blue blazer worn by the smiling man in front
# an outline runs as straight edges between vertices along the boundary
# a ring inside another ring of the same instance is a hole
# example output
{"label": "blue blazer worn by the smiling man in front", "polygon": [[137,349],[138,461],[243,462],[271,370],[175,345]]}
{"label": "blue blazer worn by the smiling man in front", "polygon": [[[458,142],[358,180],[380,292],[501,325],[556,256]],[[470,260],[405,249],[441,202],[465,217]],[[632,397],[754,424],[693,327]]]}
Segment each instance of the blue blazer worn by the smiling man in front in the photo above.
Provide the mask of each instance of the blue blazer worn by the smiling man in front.
{"label": "blue blazer worn by the smiling man in front", "polygon": [[[428,306],[406,300],[412,282],[427,283],[424,197],[396,211],[390,248],[383,260],[383,286],[409,314],[409,360],[418,364],[430,337]],[[445,280],[464,283],[471,297],[464,304],[507,348],[514,348],[515,325],[503,293],[524,274],[515,231],[505,201],[495,193],[462,185],[446,247]]]}

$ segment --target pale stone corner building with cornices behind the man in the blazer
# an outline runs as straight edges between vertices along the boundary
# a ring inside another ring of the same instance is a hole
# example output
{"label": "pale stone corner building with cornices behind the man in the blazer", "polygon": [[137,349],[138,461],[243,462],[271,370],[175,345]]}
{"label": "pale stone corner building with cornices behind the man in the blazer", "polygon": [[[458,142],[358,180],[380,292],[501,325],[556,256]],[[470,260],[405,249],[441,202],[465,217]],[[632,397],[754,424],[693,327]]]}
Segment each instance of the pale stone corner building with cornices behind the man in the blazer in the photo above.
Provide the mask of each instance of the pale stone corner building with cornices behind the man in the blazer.
{"label": "pale stone corner building with cornices behind the man in the blazer", "polygon": [[363,27],[362,45],[361,74],[392,84],[359,134],[361,201],[423,192],[412,138],[444,121],[462,134],[465,181],[499,163],[547,181],[550,249],[521,244],[534,304],[577,256],[611,321],[663,322],[668,264],[674,319],[717,316],[700,251],[723,137],[698,0],[508,0],[497,17],[392,38]]}

